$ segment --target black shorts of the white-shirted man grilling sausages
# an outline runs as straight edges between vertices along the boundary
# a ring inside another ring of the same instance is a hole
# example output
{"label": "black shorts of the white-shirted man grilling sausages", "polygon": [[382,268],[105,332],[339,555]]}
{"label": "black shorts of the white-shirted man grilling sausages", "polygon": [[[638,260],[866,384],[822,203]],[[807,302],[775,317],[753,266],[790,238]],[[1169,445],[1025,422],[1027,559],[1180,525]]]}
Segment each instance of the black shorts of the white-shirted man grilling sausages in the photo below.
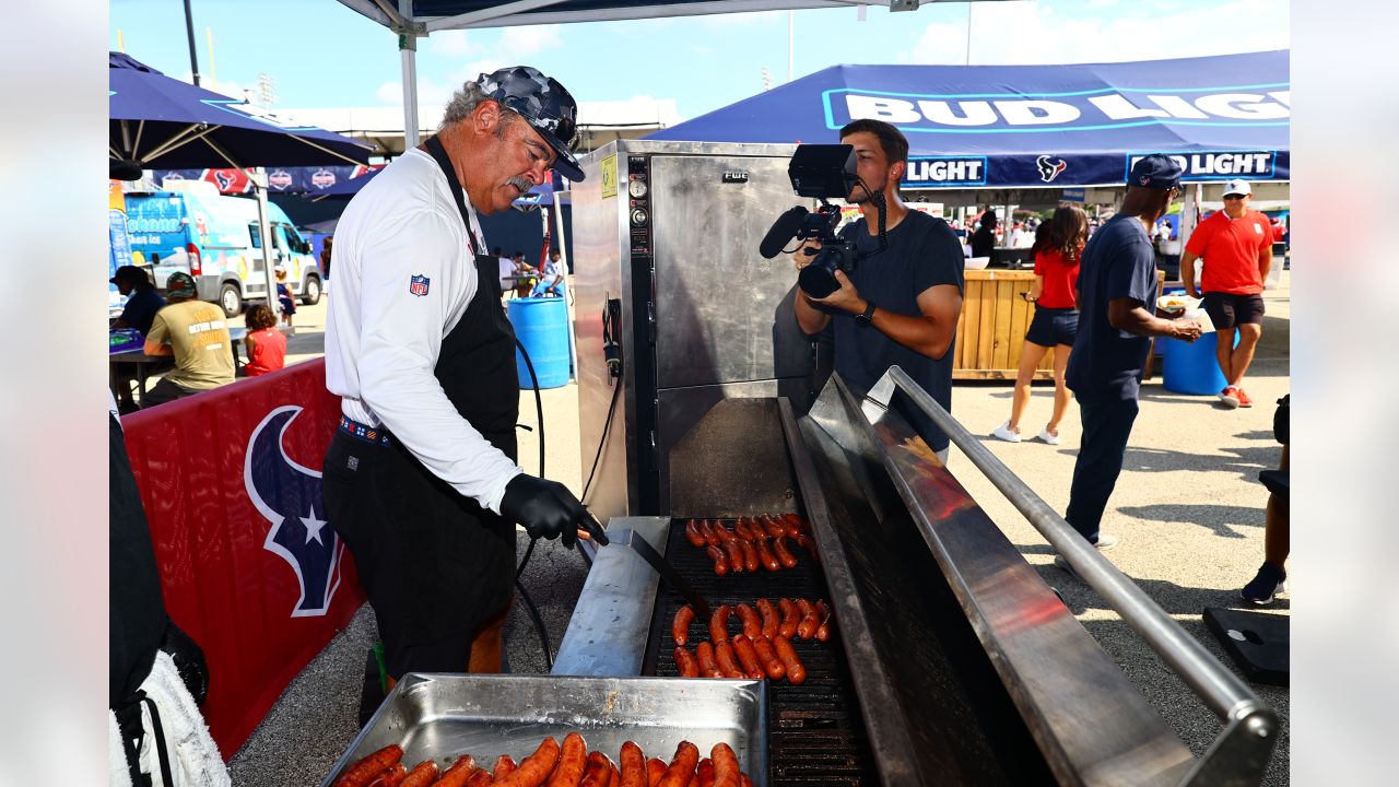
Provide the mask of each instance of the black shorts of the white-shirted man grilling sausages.
{"label": "black shorts of the white-shirted man grilling sausages", "polygon": [[374,605],[389,674],[464,672],[513,597],[515,527],[406,448],[336,431],[322,492]]}

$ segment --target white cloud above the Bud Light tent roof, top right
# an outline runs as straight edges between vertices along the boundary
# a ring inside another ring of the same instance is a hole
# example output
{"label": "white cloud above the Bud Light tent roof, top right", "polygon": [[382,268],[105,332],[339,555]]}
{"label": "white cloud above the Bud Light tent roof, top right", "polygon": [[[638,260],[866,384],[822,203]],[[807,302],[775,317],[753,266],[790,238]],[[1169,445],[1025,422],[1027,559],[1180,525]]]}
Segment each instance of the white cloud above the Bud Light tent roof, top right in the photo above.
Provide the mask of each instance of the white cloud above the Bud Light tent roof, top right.
{"label": "white cloud above the Bud Light tent roof, top right", "polygon": [[[1108,7],[1109,13],[1098,13]],[[1281,20],[1281,24],[1260,25],[1260,20]],[[967,28],[961,24],[932,24],[898,60],[963,63],[965,41]],[[1097,63],[1287,48],[1287,6],[1269,0],[1233,0],[1185,11],[1100,3],[1074,6],[1072,13],[1038,3],[978,3],[971,62]]]}

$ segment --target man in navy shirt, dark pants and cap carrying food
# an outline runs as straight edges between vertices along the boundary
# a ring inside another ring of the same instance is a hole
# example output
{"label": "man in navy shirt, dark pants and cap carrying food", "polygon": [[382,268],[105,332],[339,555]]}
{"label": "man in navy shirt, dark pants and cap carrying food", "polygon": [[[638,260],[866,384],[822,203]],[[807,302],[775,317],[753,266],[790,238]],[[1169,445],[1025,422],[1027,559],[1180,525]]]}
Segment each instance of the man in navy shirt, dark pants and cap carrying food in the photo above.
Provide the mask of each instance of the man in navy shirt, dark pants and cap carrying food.
{"label": "man in navy shirt, dark pants and cap carrying food", "polygon": [[[1156,316],[1156,258],[1149,231],[1179,192],[1181,167],[1175,161],[1160,154],[1142,158],[1132,167],[1122,207],[1083,249],[1079,335],[1065,375],[1079,399],[1083,444],[1065,520],[1098,549],[1116,543],[1098,525],[1122,472],[1150,337],[1200,337],[1195,319]],[[1062,557],[1055,564],[1069,567]]]}

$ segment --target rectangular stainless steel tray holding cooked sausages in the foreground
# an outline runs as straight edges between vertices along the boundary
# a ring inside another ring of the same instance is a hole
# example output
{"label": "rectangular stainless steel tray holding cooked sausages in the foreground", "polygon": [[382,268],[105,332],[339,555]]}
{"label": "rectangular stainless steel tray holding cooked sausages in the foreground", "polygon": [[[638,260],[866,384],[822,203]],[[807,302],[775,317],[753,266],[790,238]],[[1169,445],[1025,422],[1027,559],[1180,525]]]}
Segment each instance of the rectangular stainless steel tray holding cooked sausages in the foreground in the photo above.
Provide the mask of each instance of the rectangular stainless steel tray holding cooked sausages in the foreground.
{"label": "rectangular stainless steel tray holding cooked sausages in the foreground", "polygon": [[499,755],[520,760],[544,737],[562,741],[576,730],[589,751],[613,762],[625,741],[667,762],[680,741],[698,746],[701,756],[723,741],[753,783],[767,787],[767,709],[762,681],[410,672],[320,784],[389,744],[403,746],[409,767],[460,753],[488,767]]}

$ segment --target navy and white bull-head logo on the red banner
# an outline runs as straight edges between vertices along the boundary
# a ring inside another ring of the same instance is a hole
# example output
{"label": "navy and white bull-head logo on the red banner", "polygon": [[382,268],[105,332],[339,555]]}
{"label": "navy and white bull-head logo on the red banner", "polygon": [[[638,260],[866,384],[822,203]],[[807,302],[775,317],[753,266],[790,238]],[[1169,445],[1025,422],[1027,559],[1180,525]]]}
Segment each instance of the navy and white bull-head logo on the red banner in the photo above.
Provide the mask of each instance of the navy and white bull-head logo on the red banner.
{"label": "navy and white bull-head logo on the red banner", "polygon": [[267,413],[248,440],[243,486],[269,522],[263,549],[285,560],[297,573],[301,598],[292,618],[325,615],[340,587],[344,543],[326,522],[320,473],[292,462],[281,440],[301,408],[288,405]]}

